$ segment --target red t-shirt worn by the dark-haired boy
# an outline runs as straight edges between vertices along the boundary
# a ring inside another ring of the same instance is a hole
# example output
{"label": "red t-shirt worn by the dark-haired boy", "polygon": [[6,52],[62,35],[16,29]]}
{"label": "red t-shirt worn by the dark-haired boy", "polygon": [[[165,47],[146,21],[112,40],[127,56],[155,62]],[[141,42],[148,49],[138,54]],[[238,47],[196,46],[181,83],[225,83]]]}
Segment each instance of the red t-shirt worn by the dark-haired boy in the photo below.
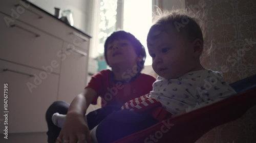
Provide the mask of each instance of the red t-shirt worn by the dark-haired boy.
{"label": "red t-shirt worn by the dark-haired boy", "polygon": [[[150,93],[156,78],[138,73],[132,78],[131,74],[124,73],[125,81],[114,80],[111,70],[102,70],[92,76],[86,88],[94,89],[101,97],[101,106],[124,104],[125,102]],[[98,97],[97,97],[98,98]],[[92,104],[96,104],[97,98]]]}

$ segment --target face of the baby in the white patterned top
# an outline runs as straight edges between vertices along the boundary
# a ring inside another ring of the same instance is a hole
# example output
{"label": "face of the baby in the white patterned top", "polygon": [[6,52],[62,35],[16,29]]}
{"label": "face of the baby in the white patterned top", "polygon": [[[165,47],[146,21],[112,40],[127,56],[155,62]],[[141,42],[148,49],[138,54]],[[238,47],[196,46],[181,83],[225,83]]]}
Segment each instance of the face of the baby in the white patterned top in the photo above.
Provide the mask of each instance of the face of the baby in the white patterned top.
{"label": "face of the baby in the white patterned top", "polygon": [[154,71],[165,79],[178,78],[193,69],[193,45],[174,28],[166,32],[155,31],[147,44]]}

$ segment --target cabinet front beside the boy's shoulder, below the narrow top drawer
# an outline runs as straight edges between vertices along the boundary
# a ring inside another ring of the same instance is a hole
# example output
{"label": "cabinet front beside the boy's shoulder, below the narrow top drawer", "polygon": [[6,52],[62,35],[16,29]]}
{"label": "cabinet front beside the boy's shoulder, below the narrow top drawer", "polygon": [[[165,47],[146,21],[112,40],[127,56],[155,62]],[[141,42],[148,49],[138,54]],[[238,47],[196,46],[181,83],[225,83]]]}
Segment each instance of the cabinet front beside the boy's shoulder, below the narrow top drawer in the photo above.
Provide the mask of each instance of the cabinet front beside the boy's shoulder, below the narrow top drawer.
{"label": "cabinet front beside the boy's shoulder, below the narrow top drawer", "polygon": [[[86,86],[88,56],[81,55],[77,51],[67,51],[68,48],[69,44],[64,43],[65,56],[61,64],[58,100],[71,103]],[[79,48],[76,47],[76,49]]]}

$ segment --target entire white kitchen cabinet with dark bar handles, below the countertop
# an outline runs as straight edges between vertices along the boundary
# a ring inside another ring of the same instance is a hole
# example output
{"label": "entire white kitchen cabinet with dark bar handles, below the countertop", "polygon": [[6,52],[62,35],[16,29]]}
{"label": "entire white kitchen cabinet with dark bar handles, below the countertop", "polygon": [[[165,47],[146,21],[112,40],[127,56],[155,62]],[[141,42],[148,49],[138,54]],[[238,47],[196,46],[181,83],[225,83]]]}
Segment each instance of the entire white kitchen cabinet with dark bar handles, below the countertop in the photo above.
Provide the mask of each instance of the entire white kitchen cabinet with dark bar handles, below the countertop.
{"label": "entire white kitchen cabinet with dark bar handles, below the countertop", "polygon": [[47,108],[57,100],[70,103],[86,87],[91,37],[33,5],[22,12],[23,3],[0,5],[0,83],[8,83],[8,133],[46,132]]}

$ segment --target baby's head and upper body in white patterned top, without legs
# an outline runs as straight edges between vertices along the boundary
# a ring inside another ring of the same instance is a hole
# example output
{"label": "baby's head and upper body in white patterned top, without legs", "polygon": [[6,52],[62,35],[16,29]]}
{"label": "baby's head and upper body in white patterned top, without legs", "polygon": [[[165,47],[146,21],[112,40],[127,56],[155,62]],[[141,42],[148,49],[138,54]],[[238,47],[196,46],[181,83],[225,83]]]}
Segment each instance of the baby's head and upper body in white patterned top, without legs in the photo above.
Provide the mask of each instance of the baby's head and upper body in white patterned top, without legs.
{"label": "baby's head and upper body in white patterned top, without legs", "polygon": [[236,94],[219,72],[201,65],[202,30],[186,12],[162,14],[148,32],[147,48],[159,75],[153,91],[126,102],[122,109],[141,112],[160,102],[172,115],[181,115]]}

